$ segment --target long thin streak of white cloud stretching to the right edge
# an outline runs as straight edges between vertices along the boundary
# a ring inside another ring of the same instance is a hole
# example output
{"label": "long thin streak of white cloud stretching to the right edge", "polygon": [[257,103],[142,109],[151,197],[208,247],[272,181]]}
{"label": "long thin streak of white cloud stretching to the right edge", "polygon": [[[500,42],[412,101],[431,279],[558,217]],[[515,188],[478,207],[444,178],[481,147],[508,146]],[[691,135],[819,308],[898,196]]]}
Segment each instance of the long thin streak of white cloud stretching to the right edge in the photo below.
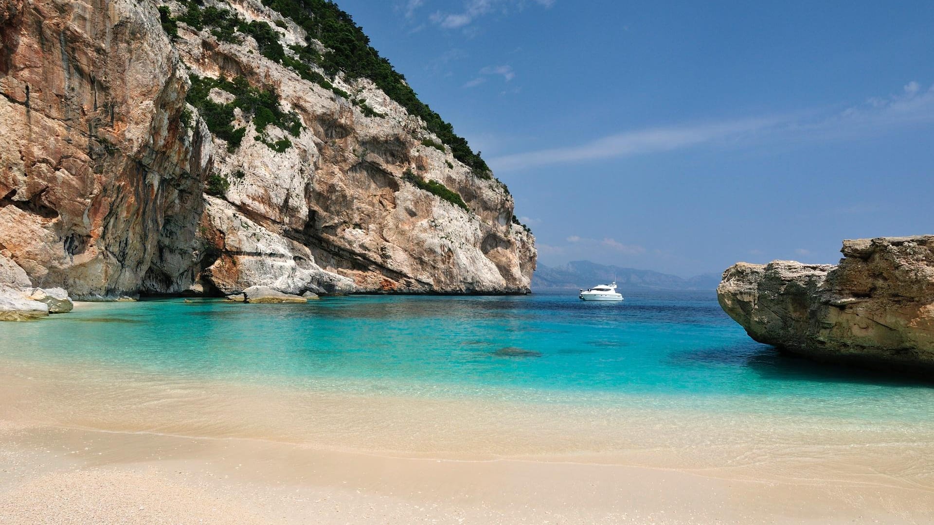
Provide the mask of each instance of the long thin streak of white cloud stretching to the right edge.
{"label": "long thin streak of white cloud stretching to the right edge", "polygon": [[686,149],[741,146],[754,140],[833,140],[877,135],[899,126],[934,122],[934,86],[910,82],[898,94],[873,97],[842,111],[808,111],[734,121],[675,124],[608,135],[577,146],[540,149],[490,160],[499,170],[577,163]]}

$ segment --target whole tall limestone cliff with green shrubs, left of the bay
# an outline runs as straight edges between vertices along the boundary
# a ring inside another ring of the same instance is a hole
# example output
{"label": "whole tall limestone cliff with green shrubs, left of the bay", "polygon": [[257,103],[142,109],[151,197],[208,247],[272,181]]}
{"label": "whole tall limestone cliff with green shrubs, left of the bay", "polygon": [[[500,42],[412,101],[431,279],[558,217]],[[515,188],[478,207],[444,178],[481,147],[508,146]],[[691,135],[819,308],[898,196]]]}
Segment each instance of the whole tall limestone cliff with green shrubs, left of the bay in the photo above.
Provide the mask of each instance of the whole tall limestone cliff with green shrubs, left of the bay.
{"label": "whole tall limestone cliff with green shrubs, left of the bay", "polygon": [[512,196],[331,4],[0,0],[0,39],[0,249],[35,286],[529,291]]}

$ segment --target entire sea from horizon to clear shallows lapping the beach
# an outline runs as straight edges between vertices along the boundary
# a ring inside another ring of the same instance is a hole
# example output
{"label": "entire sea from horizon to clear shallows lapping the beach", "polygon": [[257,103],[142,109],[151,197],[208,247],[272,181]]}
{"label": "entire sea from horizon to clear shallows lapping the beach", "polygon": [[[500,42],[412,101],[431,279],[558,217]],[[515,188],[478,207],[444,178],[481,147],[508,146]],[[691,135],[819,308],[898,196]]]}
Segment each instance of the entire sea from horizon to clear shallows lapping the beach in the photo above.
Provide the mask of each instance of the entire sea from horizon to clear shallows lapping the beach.
{"label": "entire sea from horizon to clear shallows lapping the beach", "polygon": [[0,323],[0,376],[7,413],[108,432],[934,485],[931,384],[780,353],[714,291],[623,292],[84,303]]}

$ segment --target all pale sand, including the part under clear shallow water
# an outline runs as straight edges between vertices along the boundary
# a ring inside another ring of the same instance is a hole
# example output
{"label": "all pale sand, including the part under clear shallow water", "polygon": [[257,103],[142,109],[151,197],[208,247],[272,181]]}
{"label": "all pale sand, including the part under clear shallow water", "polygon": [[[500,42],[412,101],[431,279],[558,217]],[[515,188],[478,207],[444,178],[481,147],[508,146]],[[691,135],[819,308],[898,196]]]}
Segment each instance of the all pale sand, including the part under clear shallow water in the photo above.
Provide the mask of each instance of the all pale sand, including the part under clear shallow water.
{"label": "all pale sand, including the part under clear shallow water", "polygon": [[934,434],[0,363],[0,523],[927,523]]}

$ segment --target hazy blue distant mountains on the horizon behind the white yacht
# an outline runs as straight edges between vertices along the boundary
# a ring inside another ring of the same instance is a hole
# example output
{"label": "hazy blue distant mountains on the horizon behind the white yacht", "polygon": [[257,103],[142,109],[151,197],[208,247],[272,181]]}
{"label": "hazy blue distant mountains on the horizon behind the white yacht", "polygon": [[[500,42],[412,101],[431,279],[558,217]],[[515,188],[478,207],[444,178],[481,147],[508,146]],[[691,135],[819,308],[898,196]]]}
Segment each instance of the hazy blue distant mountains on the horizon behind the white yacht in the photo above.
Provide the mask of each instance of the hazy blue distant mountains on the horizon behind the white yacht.
{"label": "hazy blue distant mountains on the horizon behind the white yacht", "polygon": [[562,266],[539,263],[532,275],[532,290],[590,288],[607,284],[616,277],[621,291],[626,290],[714,290],[720,274],[682,278],[652,270],[605,266],[589,261],[572,261]]}

